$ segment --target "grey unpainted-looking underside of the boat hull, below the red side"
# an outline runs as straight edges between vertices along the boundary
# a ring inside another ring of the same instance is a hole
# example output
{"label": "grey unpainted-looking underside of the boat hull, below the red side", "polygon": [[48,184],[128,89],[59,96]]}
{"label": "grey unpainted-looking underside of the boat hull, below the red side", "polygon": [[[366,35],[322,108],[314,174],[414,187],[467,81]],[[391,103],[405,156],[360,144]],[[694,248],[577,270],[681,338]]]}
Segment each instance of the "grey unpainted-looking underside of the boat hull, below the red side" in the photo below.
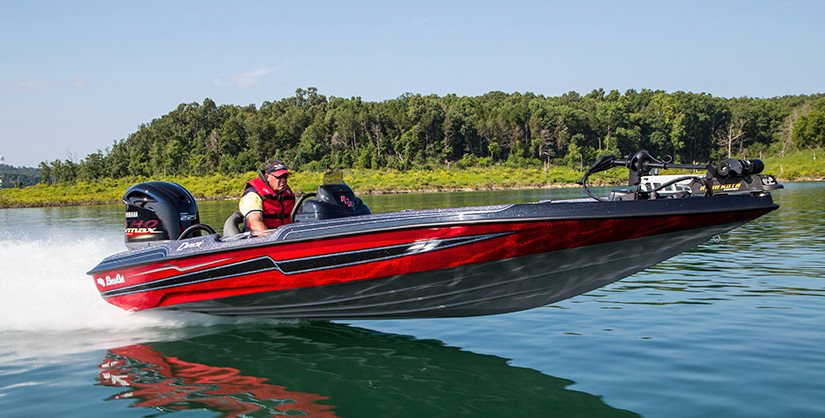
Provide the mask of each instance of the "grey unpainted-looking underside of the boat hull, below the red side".
{"label": "grey unpainted-looking underside of the boat hull, below the red side", "polygon": [[[739,224],[599,244],[406,275],[190,302],[172,310],[300,319],[494,315],[603,287]],[[650,248],[658,248],[651,252]]]}

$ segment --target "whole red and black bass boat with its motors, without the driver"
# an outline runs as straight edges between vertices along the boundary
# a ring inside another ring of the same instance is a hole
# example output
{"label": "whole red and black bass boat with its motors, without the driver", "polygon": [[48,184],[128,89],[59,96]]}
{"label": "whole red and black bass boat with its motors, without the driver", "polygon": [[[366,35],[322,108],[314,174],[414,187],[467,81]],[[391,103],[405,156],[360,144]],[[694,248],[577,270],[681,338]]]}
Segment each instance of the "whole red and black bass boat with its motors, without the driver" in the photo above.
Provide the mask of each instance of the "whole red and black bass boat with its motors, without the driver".
{"label": "whole red and black bass boat with its motors, without the driver", "polygon": [[[593,194],[588,177],[613,167],[629,170],[628,186]],[[580,182],[587,198],[378,214],[328,174],[296,202],[292,223],[241,233],[236,212],[223,234],[199,223],[184,187],[150,181],[123,196],[130,250],[88,274],[127,311],[319,320],[515,312],[613,283],[777,209],[770,190],[782,186],[763,168],[672,164],[640,151],[601,157]],[[664,169],[704,172],[656,181]]]}

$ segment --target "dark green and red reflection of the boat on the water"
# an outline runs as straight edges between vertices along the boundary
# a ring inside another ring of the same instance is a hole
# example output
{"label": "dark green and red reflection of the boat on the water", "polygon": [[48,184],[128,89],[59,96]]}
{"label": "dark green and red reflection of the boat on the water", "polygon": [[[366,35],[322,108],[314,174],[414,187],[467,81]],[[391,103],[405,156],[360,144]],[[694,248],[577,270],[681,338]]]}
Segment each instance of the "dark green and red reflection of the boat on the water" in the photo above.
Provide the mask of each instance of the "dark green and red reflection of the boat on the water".
{"label": "dark green and red reflection of the boat on the water", "polygon": [[107,401],[248,416],[635,416],[574,382],[436,340],[347,325],[232,326],[108,351]]}

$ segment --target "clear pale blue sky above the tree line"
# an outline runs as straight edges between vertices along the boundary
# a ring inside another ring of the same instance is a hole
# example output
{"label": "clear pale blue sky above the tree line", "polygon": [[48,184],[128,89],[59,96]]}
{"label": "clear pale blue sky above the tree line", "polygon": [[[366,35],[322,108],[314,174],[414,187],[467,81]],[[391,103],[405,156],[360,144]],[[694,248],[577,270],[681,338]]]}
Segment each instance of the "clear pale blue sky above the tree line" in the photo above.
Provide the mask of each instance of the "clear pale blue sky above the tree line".
{"label": "clear pale blue sky above the tree line", "polygon": [[180,103],[406,92],[825,91],[825,1],[4,1],[0,155],[110,147]]}

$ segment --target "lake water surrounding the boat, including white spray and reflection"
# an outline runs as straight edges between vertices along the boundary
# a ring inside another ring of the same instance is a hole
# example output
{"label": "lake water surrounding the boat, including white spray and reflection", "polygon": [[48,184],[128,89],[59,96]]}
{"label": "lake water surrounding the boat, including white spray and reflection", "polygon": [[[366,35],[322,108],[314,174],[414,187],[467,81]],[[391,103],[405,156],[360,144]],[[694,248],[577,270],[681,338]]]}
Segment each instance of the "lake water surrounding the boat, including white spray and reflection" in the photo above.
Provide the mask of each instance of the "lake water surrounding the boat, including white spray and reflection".
{"label": "lake water surrounding the boat, including white spray and reflection", "polygon": [[[578,189],[365,196],[375,212]],[[123,206],[0,210],[0,416],[825,416],[825,183],[602,289],[478,318],[127,314]],[[200,203],[214,226],[234,202]]]}

